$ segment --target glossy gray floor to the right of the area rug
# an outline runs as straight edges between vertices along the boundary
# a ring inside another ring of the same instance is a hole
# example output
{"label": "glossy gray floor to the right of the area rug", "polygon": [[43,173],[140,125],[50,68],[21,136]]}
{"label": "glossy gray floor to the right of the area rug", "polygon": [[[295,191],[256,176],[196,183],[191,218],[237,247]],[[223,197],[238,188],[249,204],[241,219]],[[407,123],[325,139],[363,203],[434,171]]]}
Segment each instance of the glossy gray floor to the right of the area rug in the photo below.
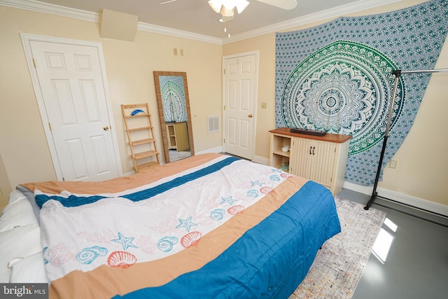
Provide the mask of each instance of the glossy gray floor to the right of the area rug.
{"label": "glossy gray floor to the right of the area rug", "polygon": [[[346,189],[338,196],[361,204],[370,200]],[[397,227],[394,232],[393,225],[382,225],[384,235],[391,236],[386,259],[370,255],[353,299],[448,298],[448,218],[380,197],[372,208],[386,211]]]}

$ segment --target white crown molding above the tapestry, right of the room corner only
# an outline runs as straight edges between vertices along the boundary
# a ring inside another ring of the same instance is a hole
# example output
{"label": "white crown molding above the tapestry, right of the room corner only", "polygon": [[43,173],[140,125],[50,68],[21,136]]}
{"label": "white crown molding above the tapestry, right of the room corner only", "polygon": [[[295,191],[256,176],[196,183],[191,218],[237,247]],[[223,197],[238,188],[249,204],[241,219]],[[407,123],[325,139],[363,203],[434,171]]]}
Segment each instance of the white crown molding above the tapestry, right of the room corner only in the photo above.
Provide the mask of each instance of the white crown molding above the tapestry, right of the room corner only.
{"label": "white crown molding above the tapestry, right of the room corner only", "polygon": [[319,11],[317,13],[310,13],[309,15],[304,15],[300,18],[295,18],[285,22],[279,22],[274,25],[269,25],[267,27],[262,27],[259,29],[251,30],[241,34],[235,34],[228,39],[223,39],[223,44],[234,43],[235,41],[242,41],[244,39],[251,39],[255,36],[260,36],[263,34],[270,34],[273,32],[280,32],[286,29],[291,29],[294,27],[299,27],[302,25],[307,25],[312,22],[318,22],[321,20],[327,20],[330,18],[339,18],[342,15],[349,13],[356,13],[357,11],[365,11],[369,8],[375,8],[378,6],[383,6],[386,4],[392,4],[395,2],[400,2],[403,0],[359,0],[351,4],[345,4],[342,6],[337,6],[335,8],[330,8],[325,11]]}

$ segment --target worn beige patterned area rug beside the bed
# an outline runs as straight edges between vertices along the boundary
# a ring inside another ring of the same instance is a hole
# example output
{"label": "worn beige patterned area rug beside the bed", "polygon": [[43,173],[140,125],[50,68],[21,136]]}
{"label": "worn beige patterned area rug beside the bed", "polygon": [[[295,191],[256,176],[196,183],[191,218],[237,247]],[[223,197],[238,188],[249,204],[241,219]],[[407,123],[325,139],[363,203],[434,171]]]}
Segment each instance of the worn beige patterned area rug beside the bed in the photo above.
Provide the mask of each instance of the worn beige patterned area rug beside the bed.
{"label": "worn beige patterned area rug beside the bed", "polygon": [[318,251],[302,284],[289,299],[351,298],[386,212],[335,197],[342,232]]}

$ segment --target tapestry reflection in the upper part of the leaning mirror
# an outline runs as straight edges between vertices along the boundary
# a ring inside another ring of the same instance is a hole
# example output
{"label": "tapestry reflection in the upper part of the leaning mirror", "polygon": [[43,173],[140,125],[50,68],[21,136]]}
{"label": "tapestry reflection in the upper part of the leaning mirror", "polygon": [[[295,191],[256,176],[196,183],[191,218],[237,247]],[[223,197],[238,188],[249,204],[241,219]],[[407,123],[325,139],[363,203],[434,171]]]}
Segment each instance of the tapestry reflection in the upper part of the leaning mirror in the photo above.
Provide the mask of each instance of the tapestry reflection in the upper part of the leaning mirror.
{"label": "tapestry reflection in the upper part of the leaning mirror", "polygon": [[187,105],[182,76],[159,76],[165,123],[187,121]]}

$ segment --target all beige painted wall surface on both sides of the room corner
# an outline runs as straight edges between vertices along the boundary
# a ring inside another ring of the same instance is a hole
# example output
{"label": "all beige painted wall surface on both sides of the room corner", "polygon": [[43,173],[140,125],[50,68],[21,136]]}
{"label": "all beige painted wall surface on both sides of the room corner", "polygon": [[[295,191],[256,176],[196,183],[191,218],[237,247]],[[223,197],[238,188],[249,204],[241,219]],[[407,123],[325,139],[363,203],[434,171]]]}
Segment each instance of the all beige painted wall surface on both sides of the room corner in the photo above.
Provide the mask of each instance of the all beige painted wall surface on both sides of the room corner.
{"label": "all beige painted wall surface on both sides of the room corner", "polygon": [[[351,15],[384,13],[421,2],[423,1],[403,0]],[[6,186],[9,184],[11,188],[15,188],[26,181],[56,179],[20,32],[102,43],[124,173],[132,171],[132,161],[128,155],[120,104],[150,104],[155,116],[153,120],[158,134],[158,146],[162,148],[153,71],[186,71],[195,150],[207,151],[221,146],[222,140],[221,132],[207,134],[207,116],[221,116],[222,113],[222,55],[259,50],[255,155],[268,158],[268,131],[275,127],[274,33],[224,46],[148,32],[137,32],[134,42],[115,41],[101,39],[95,22],[0,6],[0,155],[3,158],[3,174],[6,174],[0,176],[1,186],[6,183]],[[185,56],[174,56],[173,48],[183,48]],[[448,67],[447,43],[436,67]],[[448,139],[444,137],[444,130],[440,134],[432,130],[434,127],[444,127],[444,111],[448,108],[447,94],[447,74],[434,74],[414,126],[393,158],[398,160],[398,166],[396,169],[385,169],[384,181],[379,183],[379,188],[448,205],[448,180],[445,172],[448,168]],[[262,102],[267,103],[267,109],[261,109]],[[5,182],[6,179],[9,182]]]}

